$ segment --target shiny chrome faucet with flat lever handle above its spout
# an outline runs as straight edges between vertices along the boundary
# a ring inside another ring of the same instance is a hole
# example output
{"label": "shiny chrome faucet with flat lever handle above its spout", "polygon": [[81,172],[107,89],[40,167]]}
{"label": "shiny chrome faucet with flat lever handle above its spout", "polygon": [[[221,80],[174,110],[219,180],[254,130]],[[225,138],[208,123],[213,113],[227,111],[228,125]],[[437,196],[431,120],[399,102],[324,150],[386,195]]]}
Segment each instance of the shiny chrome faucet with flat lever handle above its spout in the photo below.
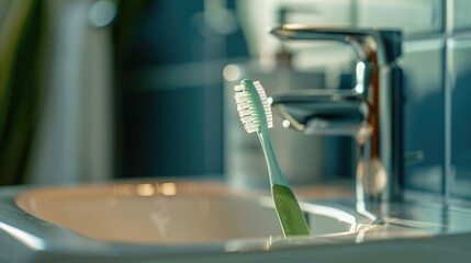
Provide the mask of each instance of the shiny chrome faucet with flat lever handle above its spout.
{"label": "shiny chrome faucet with flat lever handle above its spout", "polygon": [[352,89],[311,89],[272,98],[277,114],[306,135],[352,136],[359,146],[356,195],[359,201],[401,197],[403,173],[403,80],[397,65],[399,31],[282,25],[283,41],[335,41],[356,55]]}

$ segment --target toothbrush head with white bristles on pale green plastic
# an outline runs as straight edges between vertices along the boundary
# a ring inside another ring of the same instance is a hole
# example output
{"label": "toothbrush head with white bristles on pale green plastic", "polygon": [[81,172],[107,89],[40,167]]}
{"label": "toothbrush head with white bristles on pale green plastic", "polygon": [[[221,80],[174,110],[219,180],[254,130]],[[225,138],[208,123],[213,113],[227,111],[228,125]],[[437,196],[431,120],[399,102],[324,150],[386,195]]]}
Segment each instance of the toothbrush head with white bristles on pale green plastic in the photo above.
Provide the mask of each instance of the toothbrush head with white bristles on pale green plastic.
{"label": "toothbrush head with white bristles on pale green plastic", "polygon": [[245,79],[234,87],[234,91],[238,115],[247,133],[273,127],[270,103],[259,81]]}

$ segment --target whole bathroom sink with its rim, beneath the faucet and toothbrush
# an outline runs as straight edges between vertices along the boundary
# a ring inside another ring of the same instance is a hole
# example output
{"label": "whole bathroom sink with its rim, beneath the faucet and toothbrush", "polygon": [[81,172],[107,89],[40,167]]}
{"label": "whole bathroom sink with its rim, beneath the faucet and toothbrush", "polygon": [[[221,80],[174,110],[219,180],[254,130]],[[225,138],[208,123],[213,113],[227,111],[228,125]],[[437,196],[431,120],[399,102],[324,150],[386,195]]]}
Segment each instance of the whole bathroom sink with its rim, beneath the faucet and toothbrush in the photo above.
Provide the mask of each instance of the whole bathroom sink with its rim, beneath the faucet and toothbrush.
{"label": "whole bathroom sink with its rim, beneath the faucet and toothbrush", "polygon": [[[304,188],[312,237],[284,239],[265,191],[167,180],[0,188],[0,262],[468,262],[471,213]],[[340,192],[339,192],[340,193]],[[329,197],[329,198],[325,198]]]}

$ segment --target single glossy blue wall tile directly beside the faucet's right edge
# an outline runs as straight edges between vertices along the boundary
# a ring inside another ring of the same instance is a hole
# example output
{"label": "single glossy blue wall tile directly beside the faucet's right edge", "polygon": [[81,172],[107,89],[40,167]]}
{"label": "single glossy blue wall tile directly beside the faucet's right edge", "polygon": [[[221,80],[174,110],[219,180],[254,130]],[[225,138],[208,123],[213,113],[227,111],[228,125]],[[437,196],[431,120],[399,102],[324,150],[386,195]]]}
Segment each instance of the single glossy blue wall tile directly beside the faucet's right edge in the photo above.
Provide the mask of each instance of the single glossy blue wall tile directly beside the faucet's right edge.
{"label": "single glossy blue wall tile directly beside the faucet's right edge", "polygon": [[444,184],[444,50],[440,39],[404,43],[404,186],[434,193]]}

